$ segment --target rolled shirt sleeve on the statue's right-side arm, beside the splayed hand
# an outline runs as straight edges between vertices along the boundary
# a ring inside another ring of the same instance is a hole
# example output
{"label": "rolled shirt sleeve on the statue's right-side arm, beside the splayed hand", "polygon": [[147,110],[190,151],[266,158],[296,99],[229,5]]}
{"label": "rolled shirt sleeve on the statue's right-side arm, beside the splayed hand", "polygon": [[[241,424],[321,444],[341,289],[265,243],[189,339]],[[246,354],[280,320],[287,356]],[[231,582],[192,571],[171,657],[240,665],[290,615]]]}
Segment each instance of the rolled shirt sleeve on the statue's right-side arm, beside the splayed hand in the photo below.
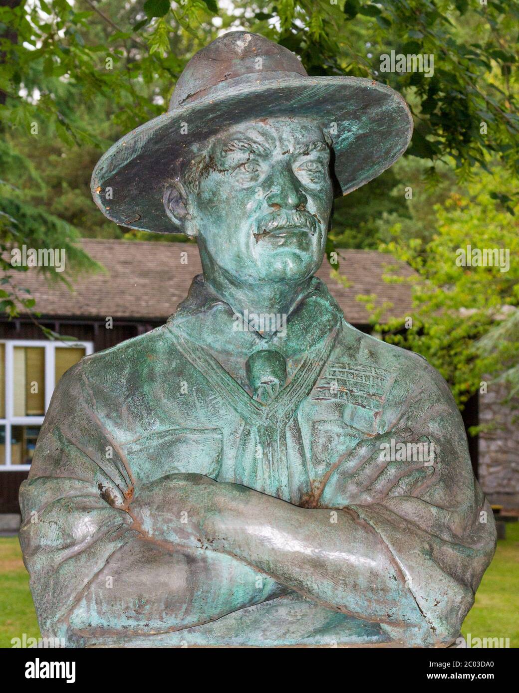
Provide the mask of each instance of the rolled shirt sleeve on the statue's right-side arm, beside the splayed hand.
{"label": "rolled shirt sleeve on the statue's right-side arm, beside the splayed hand", "polygon": [[[405,495],[395,484],[382,502],[352,505],[379,534],[400,566],[405,584],[429,629],[430,642],[459,635],[482,575],[495,551],[495,522],[473,475],[461,414],[450,389],[427,362],[420,377],[387,396],[404,404],[382,421],[410,429],[434,445],[434,473]],[[409,383],[409,374],[402,375]],[[400,382],[402,382],[402,380]],[[416,383],[420,383],[417,385]],[[385,415],[384,415],[385,416]],[[384,418],[384,416],[382,418]]]}

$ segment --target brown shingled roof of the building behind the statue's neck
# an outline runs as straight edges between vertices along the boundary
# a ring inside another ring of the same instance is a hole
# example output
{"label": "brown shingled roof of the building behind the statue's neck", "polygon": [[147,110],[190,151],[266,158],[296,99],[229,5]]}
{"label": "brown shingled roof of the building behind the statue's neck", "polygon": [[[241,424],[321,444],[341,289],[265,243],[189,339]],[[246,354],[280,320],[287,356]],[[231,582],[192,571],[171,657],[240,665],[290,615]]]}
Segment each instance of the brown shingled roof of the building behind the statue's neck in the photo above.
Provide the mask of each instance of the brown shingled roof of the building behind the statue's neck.
{"label": "brown shingled roof of the building behind the statue's neck", "polygon": [[[102,319],[110,315],[114,319],[162,321],[174,312],[194,275],[201,272],[198,247],[191,243],[94,238],[85,238],[82,243],[107,271],[79,277],[73,282],[74,292],[61,282],[47,283],[35,269],[19,275],[19,286],[31,290],[35,310],[42,315]],[[393,308],[386,315],[402,315],[409,310],[410,287],[382,279],[385,268],[395,265],[390,255],[374,250],[339,250],[339,263],[341,274],[351,283],[349,288],[330,279],[326,260],[317,275],[327,283],[348,322],[368,322],[366,309],[355,300],[359,294],[376,294],[380,303],[391,301]],[[409,265],[396,264],[401,276],[414,274]]]}

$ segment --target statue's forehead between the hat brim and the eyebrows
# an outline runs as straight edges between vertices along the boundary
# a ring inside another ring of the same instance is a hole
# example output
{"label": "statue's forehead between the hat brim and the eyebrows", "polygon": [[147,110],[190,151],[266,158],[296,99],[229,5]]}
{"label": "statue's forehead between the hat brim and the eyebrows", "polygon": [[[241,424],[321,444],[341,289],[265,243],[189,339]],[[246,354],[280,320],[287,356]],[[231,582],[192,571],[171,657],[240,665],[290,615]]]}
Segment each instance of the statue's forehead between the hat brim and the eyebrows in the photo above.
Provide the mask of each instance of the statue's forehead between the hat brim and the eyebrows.
{"label": "statue's forehead between the hat brim and the eyebrows", "polygon": [[269,150],[293,149],[307,141],[325,141],[320,125],[305,118],[275,118],[246,121],[220,132],[216,142],[225,144],[235,139],[253,139]]}

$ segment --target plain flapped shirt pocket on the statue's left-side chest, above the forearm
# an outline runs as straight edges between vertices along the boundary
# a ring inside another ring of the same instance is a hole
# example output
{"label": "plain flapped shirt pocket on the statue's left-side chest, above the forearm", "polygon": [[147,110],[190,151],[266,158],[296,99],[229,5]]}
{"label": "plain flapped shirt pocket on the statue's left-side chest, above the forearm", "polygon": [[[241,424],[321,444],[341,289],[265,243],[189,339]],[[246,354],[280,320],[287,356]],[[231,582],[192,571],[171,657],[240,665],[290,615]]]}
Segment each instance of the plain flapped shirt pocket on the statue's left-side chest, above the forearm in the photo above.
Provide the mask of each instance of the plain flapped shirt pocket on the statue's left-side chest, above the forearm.
{"label": "plain flapped shirt pocket on the statue's left-side chest, above the forearm", "polygon": [[167,474],[219,473],[222,433],[219,428],[173,428],[140,438],[126,446],[135,476],[144,483]]}

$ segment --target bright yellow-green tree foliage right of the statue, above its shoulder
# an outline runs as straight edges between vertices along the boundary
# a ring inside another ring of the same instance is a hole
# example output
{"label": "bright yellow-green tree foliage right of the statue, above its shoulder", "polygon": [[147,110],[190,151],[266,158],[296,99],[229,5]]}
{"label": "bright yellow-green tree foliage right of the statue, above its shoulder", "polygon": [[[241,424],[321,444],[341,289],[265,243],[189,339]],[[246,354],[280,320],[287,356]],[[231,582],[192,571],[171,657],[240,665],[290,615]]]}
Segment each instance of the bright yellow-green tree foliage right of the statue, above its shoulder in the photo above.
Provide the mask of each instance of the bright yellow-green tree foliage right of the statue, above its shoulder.
{"label": "bright yellow-green tree foliage right of the statue, above its shoulder", "polygon": [[[436,234],[429,243],[407,242],[398,226],[393,229],[394,240],[382,249],[416,270],[409,279],[409,315],[382,324],[382,308],[375,310],[373,297],[362,297],[384,339],[425,356],[448,380],[460,405],[488,376],[511,386],[509,399],[519,391],[519,204],[511,202],[514,193],[504,170],[482,171],[466,194],[452,193],[436,206]],[[495,254],[493,266],[488,261],[476,265],[475,252],[485,249],[487,257],[488,251],[501,249],[501,265]],[[471,257],[465,265],[461,251]],[[395,277],[388,261],[386,281],[407,280]]]}

